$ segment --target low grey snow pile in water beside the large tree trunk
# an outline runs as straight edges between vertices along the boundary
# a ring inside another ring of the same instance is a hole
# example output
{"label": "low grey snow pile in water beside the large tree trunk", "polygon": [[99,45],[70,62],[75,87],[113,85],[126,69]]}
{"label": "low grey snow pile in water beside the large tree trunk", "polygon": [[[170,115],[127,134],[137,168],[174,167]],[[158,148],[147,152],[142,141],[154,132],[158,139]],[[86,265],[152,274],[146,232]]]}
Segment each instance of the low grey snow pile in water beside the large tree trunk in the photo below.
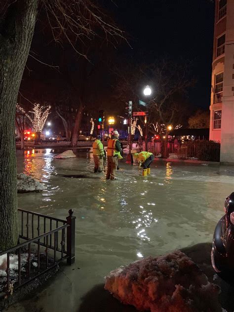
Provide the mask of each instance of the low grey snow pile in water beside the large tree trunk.
{"label": "low grey snow pile in water beside the large tree trunk", "polygon": [[24,173],[17,174],[18,193],[40,192],[46,190],[46,187],[37,179],[34,179]]}

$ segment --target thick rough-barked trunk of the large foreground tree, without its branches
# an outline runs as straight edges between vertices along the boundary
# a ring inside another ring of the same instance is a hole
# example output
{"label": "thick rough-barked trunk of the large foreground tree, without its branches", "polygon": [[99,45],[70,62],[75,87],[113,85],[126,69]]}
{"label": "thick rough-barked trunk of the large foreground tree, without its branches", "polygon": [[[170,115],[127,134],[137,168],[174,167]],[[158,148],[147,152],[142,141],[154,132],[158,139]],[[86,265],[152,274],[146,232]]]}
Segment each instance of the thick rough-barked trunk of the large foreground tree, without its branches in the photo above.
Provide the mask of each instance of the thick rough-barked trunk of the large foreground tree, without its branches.
{"label": "thick rough-barked trunk of the large foreground tree, without its branches", "polygon": [[38,13],[38,0],[17,0],[0,24],[0,250],[17,244],[15,111]]}

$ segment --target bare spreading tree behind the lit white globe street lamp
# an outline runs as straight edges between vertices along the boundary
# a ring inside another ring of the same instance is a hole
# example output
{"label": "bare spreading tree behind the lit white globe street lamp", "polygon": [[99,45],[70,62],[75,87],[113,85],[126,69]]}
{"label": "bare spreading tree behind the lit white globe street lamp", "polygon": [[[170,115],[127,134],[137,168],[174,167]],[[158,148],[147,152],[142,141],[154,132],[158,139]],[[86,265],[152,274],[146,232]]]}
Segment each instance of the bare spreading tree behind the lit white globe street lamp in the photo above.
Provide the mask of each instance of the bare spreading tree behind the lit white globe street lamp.
{"label": "bare spreading tree behind the lit white globe street lamp", "polygon": [[[133,100],[135,110],[148,111],[148,130],[159,134],[162,156],[167,157],[168,126],[178,127],[187,114],[185,94],[194,84],[189,75],[190,65],[161,59],[150,65],[130,65],[116,73],[118,97],[123,102]],[[146,85],[153,90],[148,98],[143,95]],[[139,105],[139,100],[146,102],[145,108]],[[144,126],[143,119],[140,120]]]}

